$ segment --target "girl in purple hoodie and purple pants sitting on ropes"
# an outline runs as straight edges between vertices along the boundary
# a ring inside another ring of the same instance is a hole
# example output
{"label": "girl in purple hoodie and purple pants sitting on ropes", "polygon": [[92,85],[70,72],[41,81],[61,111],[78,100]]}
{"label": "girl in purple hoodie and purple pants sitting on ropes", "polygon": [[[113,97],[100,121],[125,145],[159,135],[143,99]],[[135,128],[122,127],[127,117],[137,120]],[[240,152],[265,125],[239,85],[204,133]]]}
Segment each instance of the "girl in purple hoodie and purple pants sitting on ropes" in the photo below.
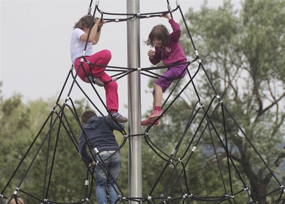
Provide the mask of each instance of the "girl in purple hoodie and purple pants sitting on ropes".
{"label": "girl in purple hoodie and purple pants sitting on ropes", "polygon": [[[147,45],[155,48],[155,50],[150,49],[148,51],[149,60],[153,65],[156,65],[160,61],[166,66],[180,63],[185,64],[168,67],[163,77],[159,77],[154,82],[153,112],[148,119],[141,121],[142,126],[152,125],[153,121],[162,114],[161,103],[163,93],[175,79],[183,78],[186,74],[186,56],[179,42],[181,36],[180,25],[169,14],[161,14],[161,16],[168,19],[173,32],[169,34],[167,28],[162,24],[152,28],[148,40],[145,41]],[[159,121],[154,125],[159,125]]]}

